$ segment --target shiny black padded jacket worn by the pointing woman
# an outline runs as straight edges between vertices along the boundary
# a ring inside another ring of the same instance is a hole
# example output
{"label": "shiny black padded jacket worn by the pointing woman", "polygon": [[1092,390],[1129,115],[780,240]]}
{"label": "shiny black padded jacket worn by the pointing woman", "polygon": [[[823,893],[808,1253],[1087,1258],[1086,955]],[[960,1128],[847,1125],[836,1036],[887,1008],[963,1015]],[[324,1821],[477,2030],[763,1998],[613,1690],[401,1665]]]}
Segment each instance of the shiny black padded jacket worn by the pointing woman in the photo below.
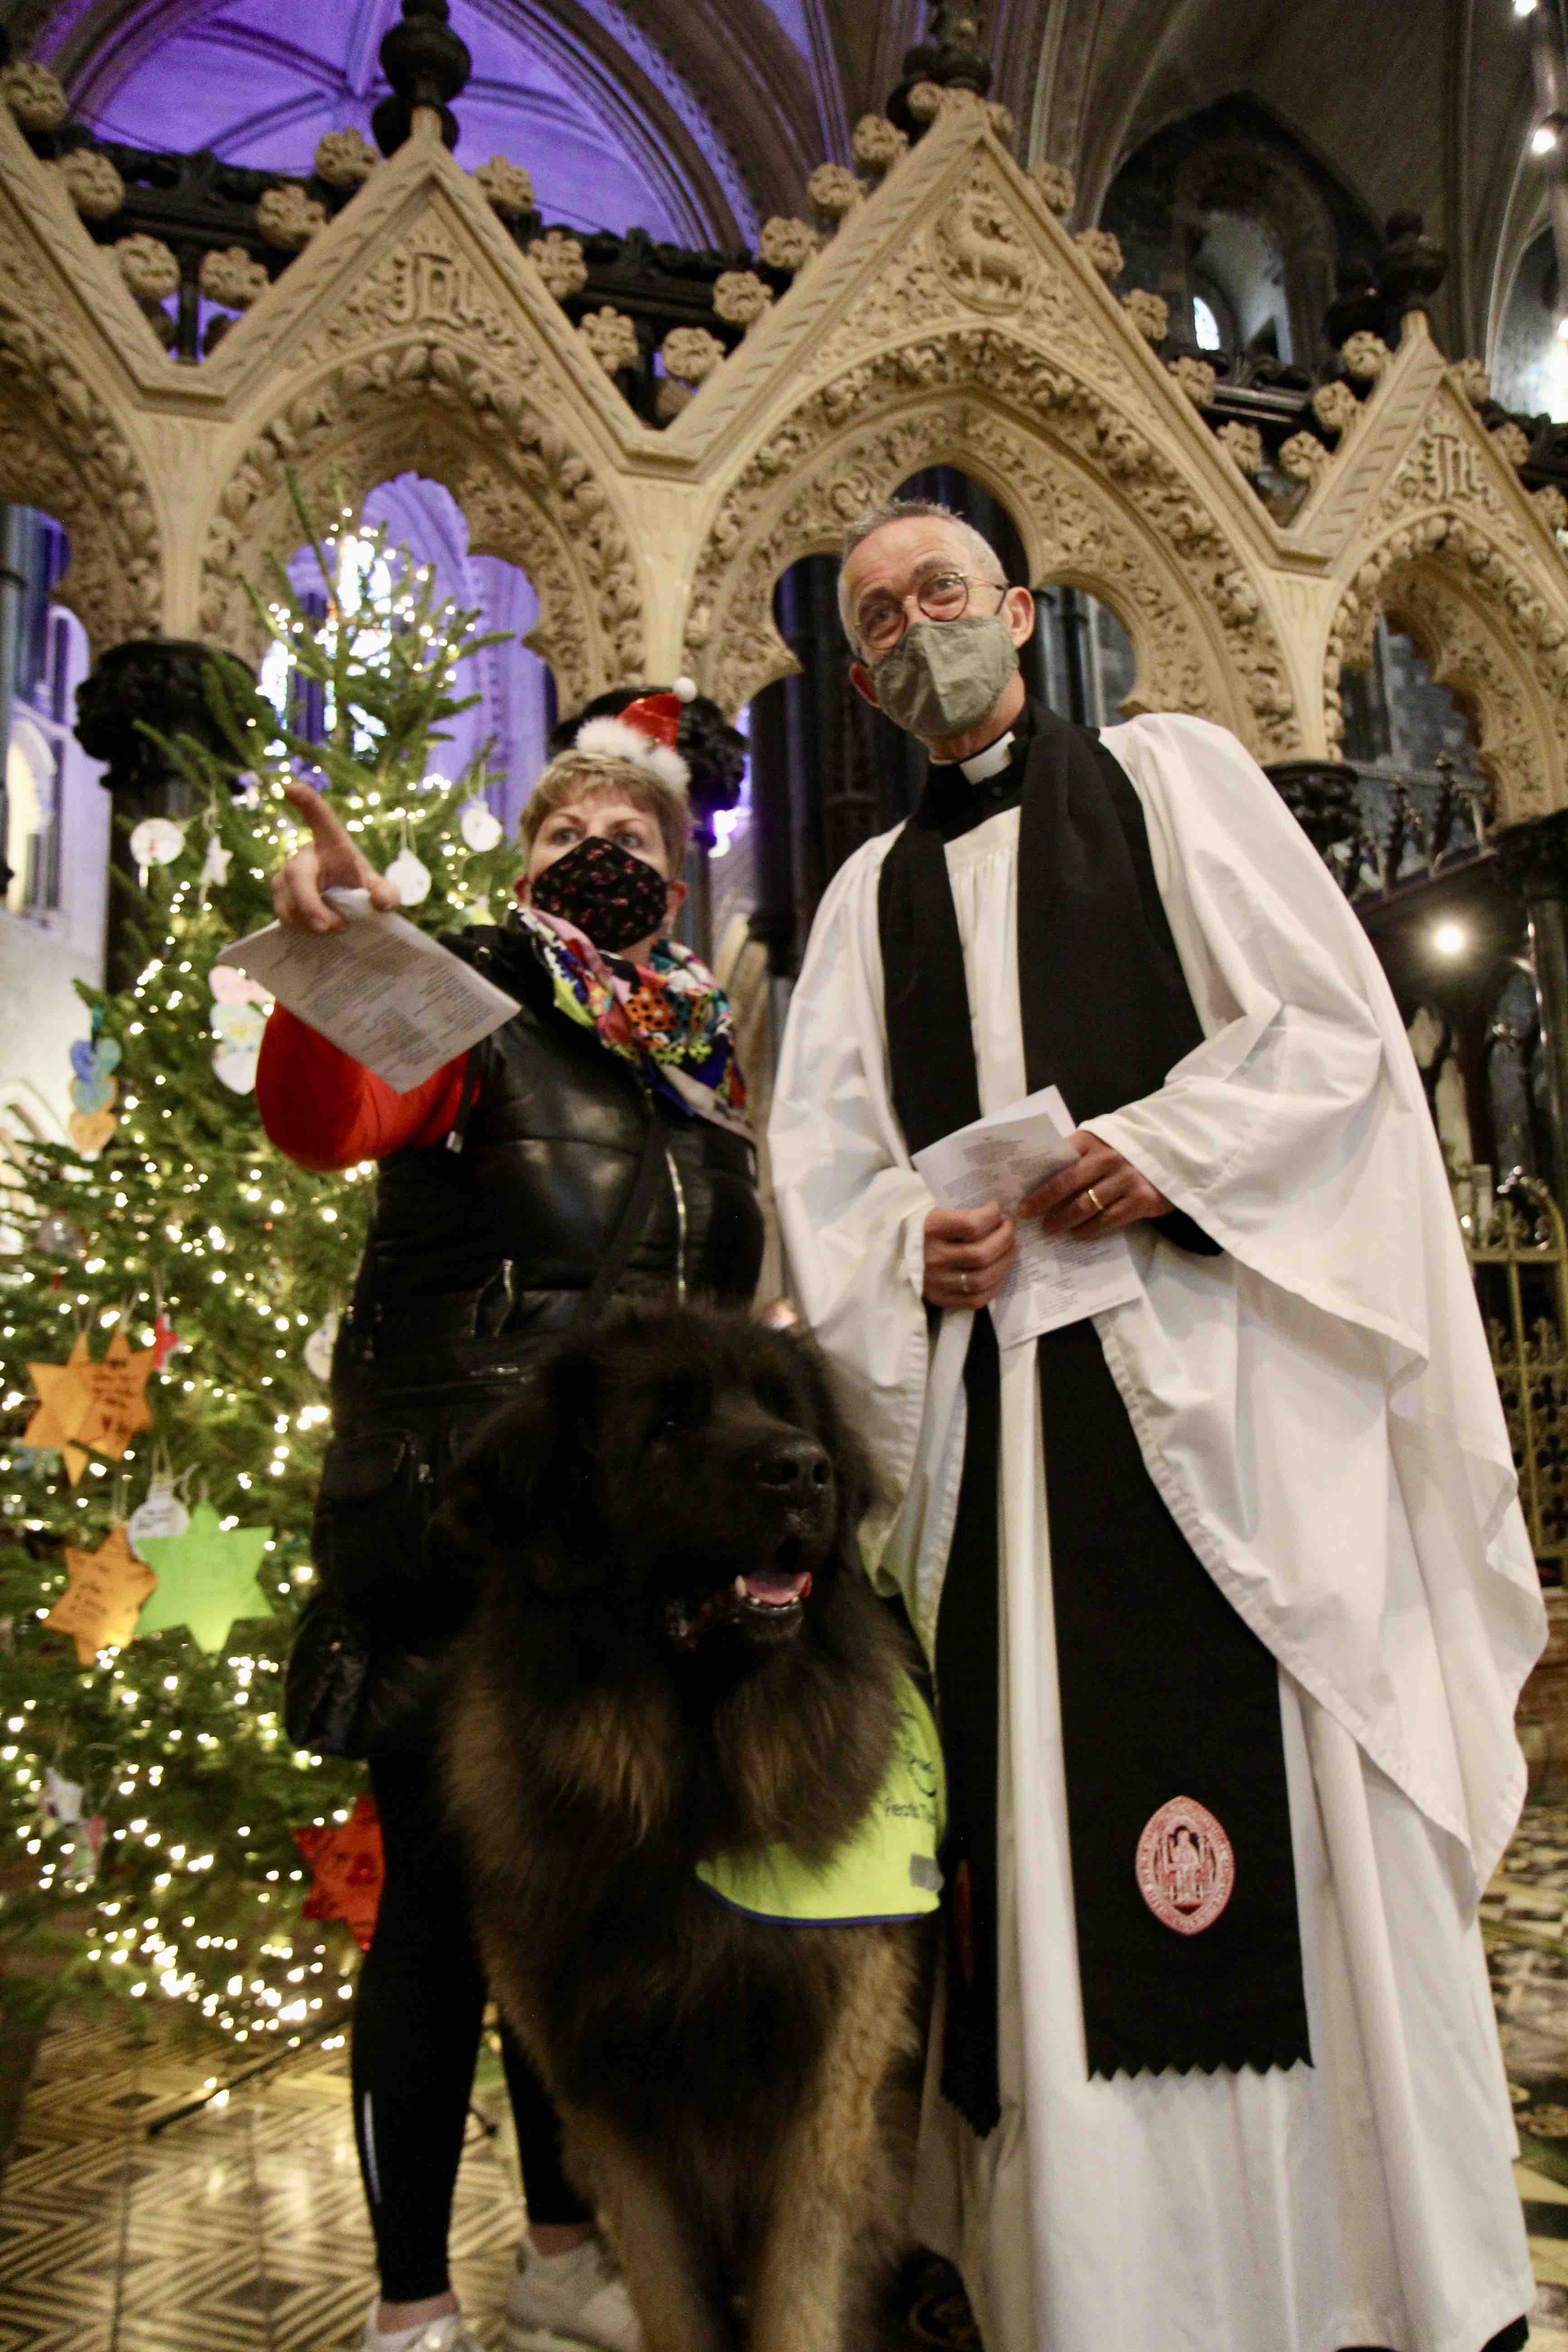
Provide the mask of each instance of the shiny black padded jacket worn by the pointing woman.
{"label": "shiny black padded jacket worn by the pointing woman", "polygon": [[[527,934],[473,929],[451,946],[522,1011],[475,1047],[454,1134],[381,1162],[331,1367],[313,1536],[322,1599],[371,1635],[355,1740],[369,1750],[423,1736],[428,1661],[465,1606],[423,1557],[451,1461],[574,1319],[649,1136],[646,1091],[555,1009]],[[750,1303],[762,1265],[752,1145],[665,1103],[651,1115],[663,1181],[616,1296]]]}

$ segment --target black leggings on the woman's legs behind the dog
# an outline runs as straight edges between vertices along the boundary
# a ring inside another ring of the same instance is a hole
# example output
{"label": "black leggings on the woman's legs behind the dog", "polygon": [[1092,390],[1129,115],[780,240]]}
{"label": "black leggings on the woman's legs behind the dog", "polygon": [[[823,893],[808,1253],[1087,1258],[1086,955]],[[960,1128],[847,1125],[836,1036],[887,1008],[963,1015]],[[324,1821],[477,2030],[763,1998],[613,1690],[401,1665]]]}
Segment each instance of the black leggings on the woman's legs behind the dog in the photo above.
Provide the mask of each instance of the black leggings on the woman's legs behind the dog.
{"label": "black leggings on the woman's legs behind the dog", "polygon": [[[449,2286],[447,2230],[480,2051],[484,1976],[456,1839],[440,1816],[435,1759],[381,1757],[369,1780],[381,1811],[386,1886],[355,1994],[355,2140],[381,2296],[423,2303]],[[501,2056],[529,2220],[592,2220],[562,2171],[555,2107],[505,2025]]]}

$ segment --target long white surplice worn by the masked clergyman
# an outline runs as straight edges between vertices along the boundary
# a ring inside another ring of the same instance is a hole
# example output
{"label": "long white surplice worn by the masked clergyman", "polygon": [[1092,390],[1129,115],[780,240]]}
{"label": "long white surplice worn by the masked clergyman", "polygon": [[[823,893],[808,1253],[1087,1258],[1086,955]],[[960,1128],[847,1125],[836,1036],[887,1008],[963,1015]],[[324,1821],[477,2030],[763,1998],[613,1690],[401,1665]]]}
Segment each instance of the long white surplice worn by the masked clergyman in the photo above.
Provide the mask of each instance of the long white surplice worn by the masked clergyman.
{"label": "long white surplice worn by the masked clergyman", "polygon": [[[1133,1228],[1143,1298],[1098,1329],[1150,1475],[1279,1661],[1314,2063],[1088,2079],[1037,1350],[1018,1348],[999,1444],[1004,2114],[978,2140],[933,2051],[917,2225],[959,2263],[987,2352],[1481,2352],[1533,2296],[1476,1929],[1544,1639],[1502,1409],[1361,927],[1234,736],[1145,717],[1105,743],[1145,809],[1204,1044],[1088,1124],[1222,1254]],[[933,1653],[971,1317],[945,1315],[929,1350],[931,1195],[882,1014],[891,840],[823,898],[769,1141],[797,1298],[889,1482],[870,1566]],[[947,847],[985,1112],[1027,1094],[1016,866],[1018,809]]]}

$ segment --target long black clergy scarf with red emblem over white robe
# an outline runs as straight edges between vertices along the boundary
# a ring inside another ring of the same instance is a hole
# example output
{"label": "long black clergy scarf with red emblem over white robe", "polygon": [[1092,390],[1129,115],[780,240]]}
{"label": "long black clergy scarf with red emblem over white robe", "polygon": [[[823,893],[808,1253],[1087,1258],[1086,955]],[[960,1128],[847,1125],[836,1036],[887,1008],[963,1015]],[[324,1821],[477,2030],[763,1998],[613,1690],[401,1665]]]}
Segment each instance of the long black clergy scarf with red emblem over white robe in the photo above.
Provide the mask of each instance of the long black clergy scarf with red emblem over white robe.
{"label": "long black clergy scarf with red emblem over white robe", "polygon": [[[1032,710],[1018,976],[1030,1091],[1074,1120],[1154,1094],[1201,1025],[1138,795],[1098,736]],[[952,790],[952,786],[947,786]],[[893,1108],[912,1152],[980,1117],[964,948],[933,793],[893,842],[879,931]],[[997,2091],[999,1359],[976,1315],[969,1442],[938,1618],[950,1776],[943,2091],[976,2131]],[[1309,2060],[1276,1665],[1150,1479],[1093,1324],[1039,1341],[1079,1983],[1091,2074]],[[1201,1933],[1161,1924],[1138,1844],[1175,1797],[1234,1851]]]}

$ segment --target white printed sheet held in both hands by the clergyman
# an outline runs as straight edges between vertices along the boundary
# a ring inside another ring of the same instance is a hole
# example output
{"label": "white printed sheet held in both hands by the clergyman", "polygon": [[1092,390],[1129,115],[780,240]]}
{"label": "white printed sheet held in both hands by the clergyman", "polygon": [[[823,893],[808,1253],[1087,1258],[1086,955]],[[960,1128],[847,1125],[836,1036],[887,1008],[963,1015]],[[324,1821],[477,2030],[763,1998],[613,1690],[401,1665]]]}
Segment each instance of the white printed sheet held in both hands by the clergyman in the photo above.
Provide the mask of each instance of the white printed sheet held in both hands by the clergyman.
{"label": "white printed sheet held in both hands by the clergyman", "polygon": [[[914,1167],[945,1209],[980,1209],[994,1200],[1016,1218],[1020,1200],[1077,1160],[1067,1143],[1072,1131],[1060,1091],[1041,1087],[1023,1103],[929,1143],[914,1152]],[[1124,1232],[1074,1242],[1041,1232],[1037,1216],[1016,1223],[1013,1232],[1018,1256],[992,1298],[999,1348],[1020,1348],[1041,1331],[1121,1308],[1143,1289]]]}

